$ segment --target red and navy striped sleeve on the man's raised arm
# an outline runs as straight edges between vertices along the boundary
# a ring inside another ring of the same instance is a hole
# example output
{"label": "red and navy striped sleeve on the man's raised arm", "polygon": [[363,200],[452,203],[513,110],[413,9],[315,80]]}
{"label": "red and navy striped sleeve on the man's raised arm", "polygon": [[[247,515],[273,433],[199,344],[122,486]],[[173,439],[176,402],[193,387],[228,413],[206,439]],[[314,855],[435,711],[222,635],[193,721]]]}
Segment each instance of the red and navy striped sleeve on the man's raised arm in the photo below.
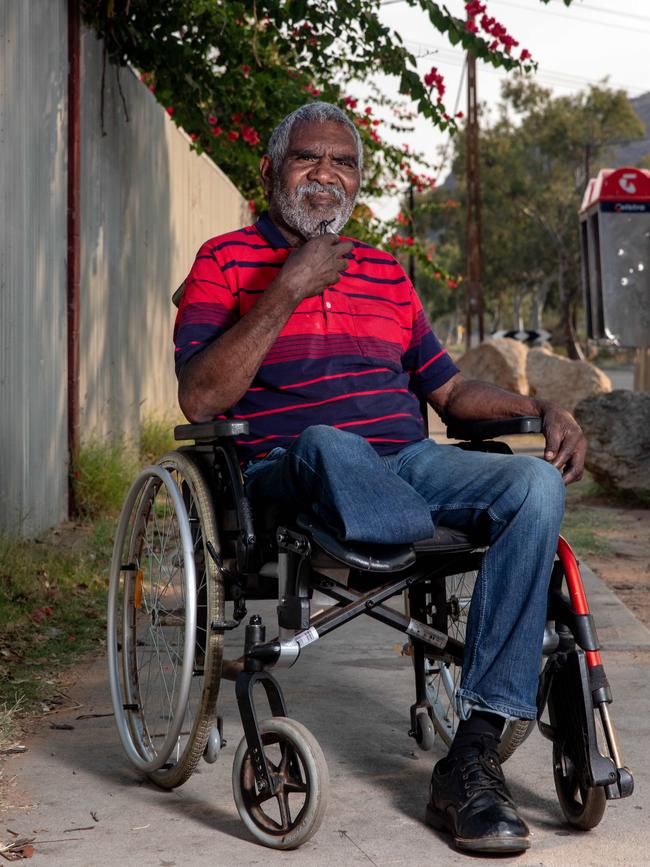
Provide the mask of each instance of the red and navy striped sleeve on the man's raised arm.
{"label": "red and navy striped sleeve on the man's raised arm", "polygon": [[239,319],[239,302],[206,242],[185,279],[174,324],[176,376],[185,364]]}

